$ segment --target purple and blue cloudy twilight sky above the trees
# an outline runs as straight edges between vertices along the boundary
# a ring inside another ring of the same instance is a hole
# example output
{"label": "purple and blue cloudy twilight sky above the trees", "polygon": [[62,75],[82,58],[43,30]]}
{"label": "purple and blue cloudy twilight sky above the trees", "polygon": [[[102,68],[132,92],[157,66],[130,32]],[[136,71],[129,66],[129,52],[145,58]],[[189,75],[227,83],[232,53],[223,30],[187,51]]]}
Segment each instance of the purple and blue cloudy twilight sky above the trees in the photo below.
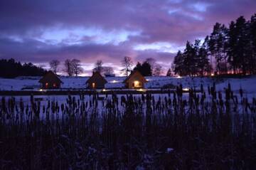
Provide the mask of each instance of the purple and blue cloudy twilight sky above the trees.
{"label": "purple and blue cloudy twilight sky above the trees", "polygon": [[119,73],[127,55],[166,69],[187,40],[255,9],[255,0],[1,0],[0,58],[46,68],[78,58],[88,75],[96,60]]}

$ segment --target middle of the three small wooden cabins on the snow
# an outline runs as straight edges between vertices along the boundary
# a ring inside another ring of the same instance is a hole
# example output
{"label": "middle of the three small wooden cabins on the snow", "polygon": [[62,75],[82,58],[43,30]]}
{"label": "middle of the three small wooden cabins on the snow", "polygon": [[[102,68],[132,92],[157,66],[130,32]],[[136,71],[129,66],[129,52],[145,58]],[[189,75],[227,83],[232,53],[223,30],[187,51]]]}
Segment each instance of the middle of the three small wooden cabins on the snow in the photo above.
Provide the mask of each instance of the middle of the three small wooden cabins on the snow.
{"label": "middle of the three small wooden cabins on the snow", "polygon": [[89,89],[103,89],[107,80],[100,75],[100,72],[93,72],[92,76],[86,81]]}

